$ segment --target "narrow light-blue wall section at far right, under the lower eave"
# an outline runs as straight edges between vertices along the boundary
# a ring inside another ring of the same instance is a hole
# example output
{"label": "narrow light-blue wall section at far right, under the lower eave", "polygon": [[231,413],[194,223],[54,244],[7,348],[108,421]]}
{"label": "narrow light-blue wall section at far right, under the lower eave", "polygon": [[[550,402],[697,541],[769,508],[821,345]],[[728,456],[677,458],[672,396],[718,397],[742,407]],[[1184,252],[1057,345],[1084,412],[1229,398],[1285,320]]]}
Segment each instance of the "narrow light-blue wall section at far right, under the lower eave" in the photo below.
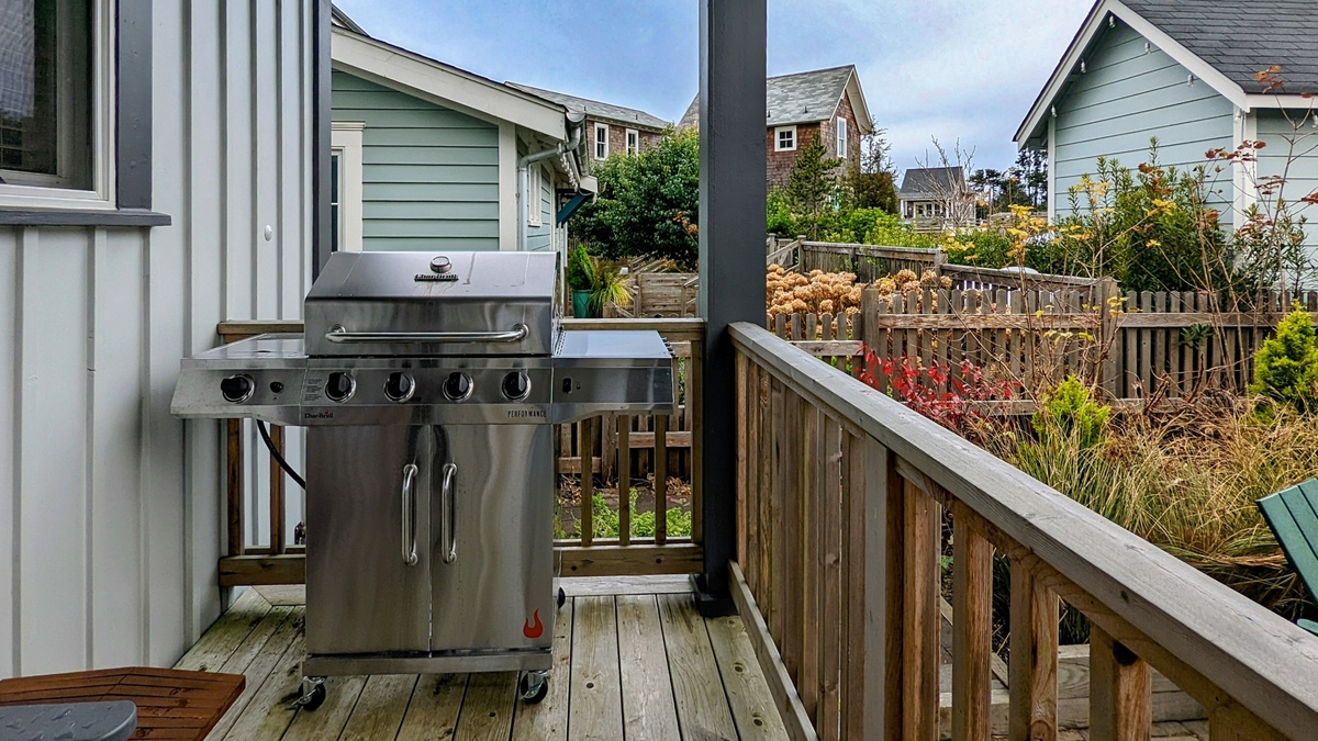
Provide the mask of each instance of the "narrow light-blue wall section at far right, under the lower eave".
{"label": "narrow light-blue wall section at far right, under the lower eave", "polygon": [[[1318,208],[1301,203],[1300,199],[1318,191],[1318,131],[1314,111],[1257,109],[1256,138],[1265,146],[1259,152],[1257,178],[1285,178],[1280,195],[1290,203],[1292,216],[1305,216],[1305,245],[1310,260],[1318,260]],[[1268,196],[1260,196],[1264,207]],[[1276,200],[1276,195],[1271,196]],[[1275,211],[1275,207],[1272,208]]]}

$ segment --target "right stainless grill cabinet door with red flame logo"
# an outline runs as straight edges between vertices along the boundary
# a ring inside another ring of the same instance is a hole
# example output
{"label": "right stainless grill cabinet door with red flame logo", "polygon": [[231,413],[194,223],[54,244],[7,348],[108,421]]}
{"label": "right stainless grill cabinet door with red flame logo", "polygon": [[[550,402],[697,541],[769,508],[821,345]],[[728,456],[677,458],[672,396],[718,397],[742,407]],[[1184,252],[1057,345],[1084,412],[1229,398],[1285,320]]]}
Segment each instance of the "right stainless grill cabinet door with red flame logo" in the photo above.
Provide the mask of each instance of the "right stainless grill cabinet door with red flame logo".
{"label": "right stainless grill cabinet door with red flame logo", "polygon": [[[435,427],[434,650],[552,645],[552,430],[550,425]],[[456,467],[451,492],[444,490],[447,464]],[[452,534],[444,522],[451,514],[456,514]],[[449,562],[447,555],[456,558]]]}

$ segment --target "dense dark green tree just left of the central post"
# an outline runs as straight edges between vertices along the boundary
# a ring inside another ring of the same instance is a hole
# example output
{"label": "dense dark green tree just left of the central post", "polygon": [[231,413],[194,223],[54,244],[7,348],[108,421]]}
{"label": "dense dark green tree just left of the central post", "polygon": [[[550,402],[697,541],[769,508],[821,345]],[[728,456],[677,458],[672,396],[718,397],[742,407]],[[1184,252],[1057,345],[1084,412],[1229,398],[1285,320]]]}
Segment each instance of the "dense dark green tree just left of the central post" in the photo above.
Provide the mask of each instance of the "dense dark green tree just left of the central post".
{"label": "dense dark green tree just left of the central post", "polygon": [[700,134],[668,131],[639,154],[594,171],[600,196],[572,220],[576,240],[610,260],[652,257],[693,268],[700,245]]}

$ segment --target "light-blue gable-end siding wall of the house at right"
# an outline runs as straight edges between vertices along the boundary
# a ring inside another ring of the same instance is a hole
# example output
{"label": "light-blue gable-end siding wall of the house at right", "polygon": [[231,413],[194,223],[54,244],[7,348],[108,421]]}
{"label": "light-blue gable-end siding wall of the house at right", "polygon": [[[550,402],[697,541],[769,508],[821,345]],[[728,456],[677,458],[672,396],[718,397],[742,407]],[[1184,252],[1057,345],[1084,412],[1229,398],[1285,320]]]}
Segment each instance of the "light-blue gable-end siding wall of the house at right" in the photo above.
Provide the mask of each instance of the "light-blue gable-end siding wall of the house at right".
{"label": "light-blue gable-end siding wall of the house at right", "polygon": [[[1097,171],[1099,156],[1135,167],[1148,161],[1156,136],[1159,161],[1184,169],[1205,163],[1209,149],[1232,148],[1231,103],[1202,80],[1190,83],[1189,70],[1120,21],[1103,32],[1085,66],[1057,104],[1049,163],[1057,216],[1070,212],[1068,189]],[[1214,187],[1231,202],[1228,171]]]}

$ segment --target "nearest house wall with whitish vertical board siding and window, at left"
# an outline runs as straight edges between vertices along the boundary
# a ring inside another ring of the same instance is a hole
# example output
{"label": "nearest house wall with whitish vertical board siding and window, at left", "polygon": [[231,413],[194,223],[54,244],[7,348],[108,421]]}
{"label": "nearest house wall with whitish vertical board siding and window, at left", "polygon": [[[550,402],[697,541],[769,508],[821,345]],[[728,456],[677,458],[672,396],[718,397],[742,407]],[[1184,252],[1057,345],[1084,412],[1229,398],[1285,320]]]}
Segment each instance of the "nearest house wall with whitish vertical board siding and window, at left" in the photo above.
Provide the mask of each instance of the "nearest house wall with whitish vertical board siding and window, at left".
{"label": "nearest house wall with whitish vertical board siding and window, at left", "polygon": [[0,678],[171,666],[224,607],[221,427],[170,397],[217,322],[302,315],[328,15],[0,4]]}

